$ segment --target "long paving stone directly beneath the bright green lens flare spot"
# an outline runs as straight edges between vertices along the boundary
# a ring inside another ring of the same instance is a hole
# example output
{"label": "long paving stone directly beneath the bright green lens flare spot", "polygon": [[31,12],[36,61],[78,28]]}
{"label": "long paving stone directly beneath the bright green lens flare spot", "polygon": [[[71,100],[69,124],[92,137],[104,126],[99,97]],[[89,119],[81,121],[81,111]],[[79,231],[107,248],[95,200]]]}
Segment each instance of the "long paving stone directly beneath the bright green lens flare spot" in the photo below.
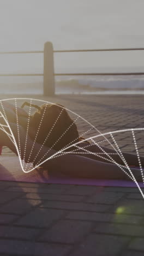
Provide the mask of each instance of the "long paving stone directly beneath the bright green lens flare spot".
{"label": "long paving stone directly beneath the bright green lens flare spot", "polygon": [[91,220],[96,222],[113,222],[113,223],[128,223],[139,224],[143,217],[125,214],[112,214],[112,213],[98,213],[98,212],[80,212],[71,211],[65,218]]}

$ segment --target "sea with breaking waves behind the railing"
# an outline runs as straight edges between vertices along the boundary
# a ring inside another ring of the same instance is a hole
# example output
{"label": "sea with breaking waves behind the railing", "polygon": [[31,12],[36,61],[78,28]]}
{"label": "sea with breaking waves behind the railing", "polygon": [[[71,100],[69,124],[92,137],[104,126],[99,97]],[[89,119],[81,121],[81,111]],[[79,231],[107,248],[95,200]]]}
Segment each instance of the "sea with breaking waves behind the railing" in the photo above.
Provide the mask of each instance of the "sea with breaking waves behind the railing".
{"label": "sea with breaking waves behind the railing", "polygon": [[[143,95],[144,75],[63,76],[55,78],[56,94]],[[13,77],[0,80],[1,94],[43,94],[42,77]]]}

